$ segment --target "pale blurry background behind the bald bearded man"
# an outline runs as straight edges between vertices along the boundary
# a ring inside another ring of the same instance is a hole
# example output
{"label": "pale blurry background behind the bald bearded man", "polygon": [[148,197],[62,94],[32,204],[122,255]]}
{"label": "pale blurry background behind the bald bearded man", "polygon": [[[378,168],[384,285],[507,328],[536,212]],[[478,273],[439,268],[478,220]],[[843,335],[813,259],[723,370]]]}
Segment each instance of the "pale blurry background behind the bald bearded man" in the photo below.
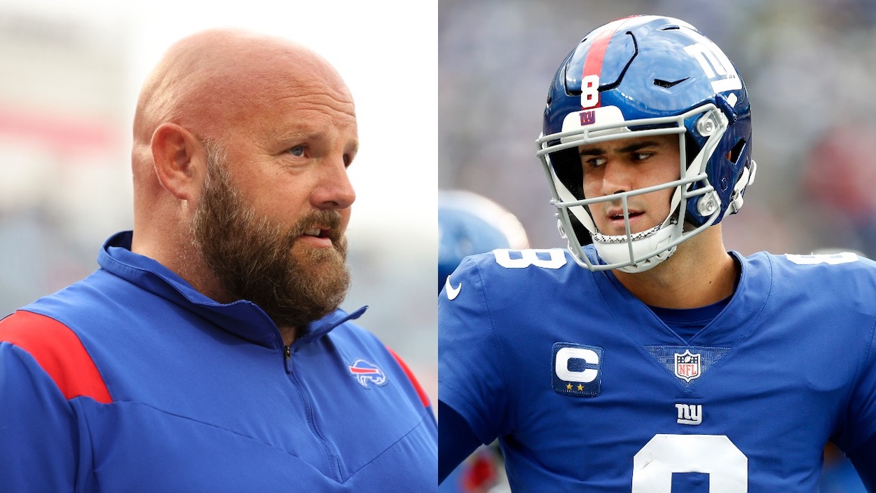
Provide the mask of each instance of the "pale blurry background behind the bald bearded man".
{"label": "pale blurry background behind the bald bearded man", "polygon": [[[398,20],[400,19],[400,20]],[[0,318],[91,273],[131,229],[131,120],[175,40],[214,26],[293,39],[357,104],[348,310],[436,400],[437,4],[0,0]]]}

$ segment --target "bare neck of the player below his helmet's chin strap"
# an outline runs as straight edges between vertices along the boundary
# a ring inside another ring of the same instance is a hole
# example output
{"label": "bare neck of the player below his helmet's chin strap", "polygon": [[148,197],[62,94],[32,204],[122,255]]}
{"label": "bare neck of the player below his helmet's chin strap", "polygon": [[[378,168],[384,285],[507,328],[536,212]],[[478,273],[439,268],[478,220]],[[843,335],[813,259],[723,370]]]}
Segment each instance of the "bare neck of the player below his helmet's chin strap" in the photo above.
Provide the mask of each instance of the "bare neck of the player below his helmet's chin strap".
{"label": "bare neck of the player below his helmet's chin strap", "polygon": [[697,308],[733,294],[738,265],[724,249],[720,225],[716,225],[683,242],[655,268],[639,274],[614,271],[614,275],[645,304]]}

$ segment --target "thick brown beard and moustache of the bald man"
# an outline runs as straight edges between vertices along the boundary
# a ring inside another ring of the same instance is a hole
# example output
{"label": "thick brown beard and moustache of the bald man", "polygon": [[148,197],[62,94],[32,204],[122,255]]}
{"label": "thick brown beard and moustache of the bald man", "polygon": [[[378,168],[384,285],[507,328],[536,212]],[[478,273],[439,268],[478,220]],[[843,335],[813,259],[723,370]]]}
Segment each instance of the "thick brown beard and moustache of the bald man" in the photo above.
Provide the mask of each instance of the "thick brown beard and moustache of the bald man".
{"label": "thick brown beard and moustache of the bald man", "polygon": [[[224,155],[208,146],[207,180],[191,225],[194,246],[232,297],[257,304],[280,327],[301,330],[340,306],[350,287],[341,215],[309,211],[288,227],[272,223],[244,204]],[[296,247],[295,239],[316,226],[330,229],[333,247]]]}

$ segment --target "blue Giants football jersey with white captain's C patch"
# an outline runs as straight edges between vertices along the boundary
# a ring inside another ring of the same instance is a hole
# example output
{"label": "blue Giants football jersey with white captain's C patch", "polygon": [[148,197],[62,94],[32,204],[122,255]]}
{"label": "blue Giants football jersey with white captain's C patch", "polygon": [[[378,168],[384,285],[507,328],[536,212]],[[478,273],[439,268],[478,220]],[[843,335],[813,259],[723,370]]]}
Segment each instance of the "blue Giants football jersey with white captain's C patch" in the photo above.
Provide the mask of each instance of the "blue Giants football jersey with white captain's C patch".
{"label": "blue Giants football jersey with white captain's C patch", "polygon": [[562,249],[468,257],[439,297],[439,399],[499,439],[515,493],[815,492],[829,440],[876,436],[876,263],[732,254],[735,293],[687,342]]}

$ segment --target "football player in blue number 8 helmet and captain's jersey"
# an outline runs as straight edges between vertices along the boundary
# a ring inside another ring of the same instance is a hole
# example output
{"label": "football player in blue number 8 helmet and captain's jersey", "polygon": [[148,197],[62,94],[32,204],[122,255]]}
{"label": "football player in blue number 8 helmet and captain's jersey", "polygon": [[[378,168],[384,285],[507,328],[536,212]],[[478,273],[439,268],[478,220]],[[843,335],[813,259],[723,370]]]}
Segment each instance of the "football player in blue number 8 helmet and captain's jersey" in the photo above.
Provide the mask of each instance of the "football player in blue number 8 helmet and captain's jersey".
{"label": "football player in blue number 8 helmet and captain's jersey", "polygon": [[[439,481],[498,439],[513,491],[876,490],[876,263],[744,257],[737,68],[677,18],[587,34],[536,140],[563,249],[464,260],[439,297]],[[590,244],[588,244],[590,243]]]}

